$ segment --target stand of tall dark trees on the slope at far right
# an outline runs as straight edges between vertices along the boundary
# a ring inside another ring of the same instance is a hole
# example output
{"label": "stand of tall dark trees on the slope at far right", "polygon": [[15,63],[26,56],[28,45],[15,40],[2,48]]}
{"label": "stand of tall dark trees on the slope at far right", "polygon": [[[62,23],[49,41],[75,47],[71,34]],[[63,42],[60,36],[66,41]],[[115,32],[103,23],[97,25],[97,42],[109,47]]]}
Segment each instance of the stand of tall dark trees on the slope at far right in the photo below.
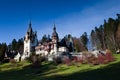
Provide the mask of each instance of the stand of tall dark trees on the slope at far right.
{"label": "stand of tall dark trees on the slope at far right", "polygon": [[120,48],[120,15],[117,19],[109,18],[104,20],[104,24],[95,27],[91,31],[91,39],[93,46],[97,49],[110,49],[115,51]]}

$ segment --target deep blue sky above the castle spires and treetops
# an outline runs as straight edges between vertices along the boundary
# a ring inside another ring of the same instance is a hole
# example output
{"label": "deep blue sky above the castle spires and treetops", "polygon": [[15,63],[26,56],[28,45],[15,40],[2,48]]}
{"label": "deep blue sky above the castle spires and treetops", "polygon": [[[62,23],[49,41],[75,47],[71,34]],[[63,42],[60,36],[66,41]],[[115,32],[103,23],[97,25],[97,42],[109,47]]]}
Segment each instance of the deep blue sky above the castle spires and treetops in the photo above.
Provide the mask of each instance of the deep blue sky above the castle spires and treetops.
{"label": "deep blue sky above the castle spires and treetops", "polygon": [[0,43],[24,37],[30,19],[38,39],[51,35],[54,23],[60,38],[79,37],[117,13],[120,0],[0,0]]}

